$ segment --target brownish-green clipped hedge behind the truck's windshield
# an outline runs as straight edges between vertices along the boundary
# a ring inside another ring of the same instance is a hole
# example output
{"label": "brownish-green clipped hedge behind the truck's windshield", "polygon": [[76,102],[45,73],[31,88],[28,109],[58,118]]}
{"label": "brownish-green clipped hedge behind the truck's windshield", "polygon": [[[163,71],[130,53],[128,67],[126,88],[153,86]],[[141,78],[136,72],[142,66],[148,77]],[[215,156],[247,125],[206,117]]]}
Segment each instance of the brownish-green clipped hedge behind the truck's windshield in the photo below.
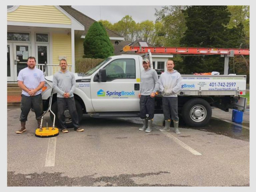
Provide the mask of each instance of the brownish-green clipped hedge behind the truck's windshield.
{"label": "brownish-green clipped hedge behind the truck's windshield", "polygon": [[77,59],[75,64],[76,73],[87,72],[104,59],[82,58]]}

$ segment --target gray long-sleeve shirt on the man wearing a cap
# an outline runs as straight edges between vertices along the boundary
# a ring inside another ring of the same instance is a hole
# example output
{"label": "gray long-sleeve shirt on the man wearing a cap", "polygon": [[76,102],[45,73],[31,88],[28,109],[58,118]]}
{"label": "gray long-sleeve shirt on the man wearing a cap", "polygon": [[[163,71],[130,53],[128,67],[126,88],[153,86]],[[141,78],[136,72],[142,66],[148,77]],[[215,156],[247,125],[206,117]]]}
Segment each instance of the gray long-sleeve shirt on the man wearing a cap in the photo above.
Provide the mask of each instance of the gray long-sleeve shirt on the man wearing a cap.
{"label": "gray long-sleeve shirt on the man wearing a cap", "polygon": [[159,89],[158,75],[154,69],[145,70],[140,72],[141,75],[141,95],[151,95]]}

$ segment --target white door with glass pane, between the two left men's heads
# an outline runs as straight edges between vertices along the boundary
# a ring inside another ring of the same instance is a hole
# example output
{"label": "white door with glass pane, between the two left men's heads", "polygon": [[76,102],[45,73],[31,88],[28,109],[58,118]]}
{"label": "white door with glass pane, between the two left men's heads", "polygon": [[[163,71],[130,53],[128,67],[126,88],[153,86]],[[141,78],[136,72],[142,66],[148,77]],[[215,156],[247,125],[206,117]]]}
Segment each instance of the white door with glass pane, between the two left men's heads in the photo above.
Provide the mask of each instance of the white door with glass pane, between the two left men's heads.
{"label": "white door with glass pane, between the two left men's heads", "polygon": [[49,64],[49,45],[36,44],[36,63],[39,65],[39,69],[45,72],[45,62]]}

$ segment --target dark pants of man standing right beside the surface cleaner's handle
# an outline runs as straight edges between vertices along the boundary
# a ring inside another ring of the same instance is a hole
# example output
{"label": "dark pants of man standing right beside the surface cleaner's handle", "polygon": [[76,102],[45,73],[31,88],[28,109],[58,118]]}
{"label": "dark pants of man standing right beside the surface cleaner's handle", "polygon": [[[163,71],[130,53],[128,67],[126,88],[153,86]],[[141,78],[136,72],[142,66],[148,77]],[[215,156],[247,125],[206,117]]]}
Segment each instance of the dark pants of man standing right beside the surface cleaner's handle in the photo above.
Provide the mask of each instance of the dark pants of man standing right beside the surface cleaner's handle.
{"label": "dark pants of man standing right beside the surface cleaner's handle", "polygon": [[79,128],[80,126],[79,126],[78,114],[76,111],[75,98],[74,97],[69,97],[69,98],[57,97],[57,105],[58,105],[58,118],[59,118],[62,129],[67,128],[67,125],[65,123],[66,118],[64,115],[66,106],[68,107],[69,114],[71,116],[72,123],[74,125],[74,129],[76,130],[77,128]]}

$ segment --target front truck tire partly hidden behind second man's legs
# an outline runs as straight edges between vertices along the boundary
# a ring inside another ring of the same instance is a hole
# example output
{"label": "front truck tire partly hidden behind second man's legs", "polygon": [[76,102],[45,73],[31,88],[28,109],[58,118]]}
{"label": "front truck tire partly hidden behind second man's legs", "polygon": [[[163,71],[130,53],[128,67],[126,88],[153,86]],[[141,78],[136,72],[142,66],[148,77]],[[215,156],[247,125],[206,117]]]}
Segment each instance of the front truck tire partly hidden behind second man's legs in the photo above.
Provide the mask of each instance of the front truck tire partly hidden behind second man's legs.
{"label": "front truck tire partly hidden behind second man's legs", "polygon": [[[79,119],[79,122],[81,122],[81,120],[82,120],[82,118],[83,118],[83,109],[82,109],[82,107],[81,107],[81,104],[80,104],[77,100],[75,100],[75,103],[76,103],[76,111],[77,111],[77,114],[78,114],[78,119]],[[58,128],[61,128],[60,121],[59,121],[59,118],[58,118],[58,106],[57,106],[57,101],[52,104],[51,110],[52,110],[52,112],[55,114],[55,125],[56,125]],[[67,128],[72,128],[72,127],[74,127],[68,109],[65,110],[64,114],[65,114],[65,116],[66,116],[66,125],[67,125]],[[52,122],[53,122],[54,116],[53,116],[52,113],[50,113],[50,117],[51,117],[51,120],[52,120]]]}

